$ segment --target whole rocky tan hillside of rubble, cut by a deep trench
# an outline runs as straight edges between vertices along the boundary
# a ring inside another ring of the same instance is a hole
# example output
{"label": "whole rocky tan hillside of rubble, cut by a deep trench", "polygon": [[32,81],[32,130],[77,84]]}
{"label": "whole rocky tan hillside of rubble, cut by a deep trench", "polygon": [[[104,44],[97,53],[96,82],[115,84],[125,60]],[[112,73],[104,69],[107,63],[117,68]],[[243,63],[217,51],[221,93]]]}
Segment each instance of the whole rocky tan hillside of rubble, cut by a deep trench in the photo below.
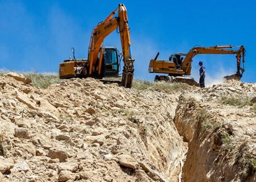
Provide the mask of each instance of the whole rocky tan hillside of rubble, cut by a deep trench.
{"label": "whole rocky tan hillside of rubble, cut by a deep trench", "polygon": [[134,85],[0,76],[0,181],[255,181],[256,84]]}

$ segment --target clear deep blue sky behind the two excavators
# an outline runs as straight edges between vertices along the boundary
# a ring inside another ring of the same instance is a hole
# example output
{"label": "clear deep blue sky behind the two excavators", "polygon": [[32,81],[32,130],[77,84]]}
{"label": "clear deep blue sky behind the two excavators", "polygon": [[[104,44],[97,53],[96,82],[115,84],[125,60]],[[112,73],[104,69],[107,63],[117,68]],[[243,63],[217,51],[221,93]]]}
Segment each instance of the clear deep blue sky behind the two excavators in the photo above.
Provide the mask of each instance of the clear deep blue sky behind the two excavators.
{"label": "clear deep blue sky behind the two excavators", "polygon": [[[68,59],[87,57],[90,34],[117,6],[127,8],[135,77],[152,80],[149,60],[160,52],[168,59],[195,45],[243,45],[246,48],[242,81],[256,82],[256,1],[2,1],[0,0],[0,68],[15,71],[57,72]],[[113,32],[104,46],[121,48]],[[234,55],[199,55],[193,59],[207,68],[208,81],[236,72]]]}

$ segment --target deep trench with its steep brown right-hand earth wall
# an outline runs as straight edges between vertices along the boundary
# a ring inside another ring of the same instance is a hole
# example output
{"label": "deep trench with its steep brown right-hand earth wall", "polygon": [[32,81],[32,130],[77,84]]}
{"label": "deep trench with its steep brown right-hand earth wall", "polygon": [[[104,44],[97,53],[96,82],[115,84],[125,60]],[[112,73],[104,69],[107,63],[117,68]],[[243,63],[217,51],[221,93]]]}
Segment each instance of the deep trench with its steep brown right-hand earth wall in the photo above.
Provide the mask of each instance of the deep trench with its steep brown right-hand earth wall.
{"label": "deep trench with its steep brown right-hand earth wall", "polygon": [[[183,155],[170,163],[174,165],[170,181],[255,181],[255,168],[248,164],[249,160],[241,162],[249,158],[248,150],[244,149],[247,143],[238,147],[237,154],[227,148],[231,144],[224,143],[223,139],[228,140],[232,131],[221,126],[216,113],[204,107],[210,108],[189,95],[179,97],[173,121],[184,140],[183,149],[179,151]],[[170,152],[172,156],[173,151]]]}

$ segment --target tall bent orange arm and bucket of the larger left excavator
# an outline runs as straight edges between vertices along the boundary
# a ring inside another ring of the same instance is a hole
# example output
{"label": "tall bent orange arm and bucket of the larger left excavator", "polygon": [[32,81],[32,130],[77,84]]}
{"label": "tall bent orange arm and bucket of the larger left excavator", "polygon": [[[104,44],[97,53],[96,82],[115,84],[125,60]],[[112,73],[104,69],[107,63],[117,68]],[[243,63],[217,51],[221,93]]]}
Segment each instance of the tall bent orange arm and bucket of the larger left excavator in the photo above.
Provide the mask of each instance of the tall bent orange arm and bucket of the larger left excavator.
{"label": "tall bent orange arm and bucket of the larger left excavator", "polygon": [[[115,14],[118,16],[113,17]],[[134,59],[131,58],[130,52],[130,31],[128,27],[127,10],[125,5],[119,4],[103,22],[100,22],[94,27],[92,36],[90,38],[89,50],[88,50],[88,62],[89,62],[89,75],[92,75],[93,67],[98,67],[98,73],[101,72],[102,55],[101,46],[106,36],[111,34],[114,30],[119,29],[119,35],[122,45],[123,53],[123,74],[122,74],[122,86],[130,88],[133,82]],[[100,52],[100,60],[97,64],[98,53]]]}

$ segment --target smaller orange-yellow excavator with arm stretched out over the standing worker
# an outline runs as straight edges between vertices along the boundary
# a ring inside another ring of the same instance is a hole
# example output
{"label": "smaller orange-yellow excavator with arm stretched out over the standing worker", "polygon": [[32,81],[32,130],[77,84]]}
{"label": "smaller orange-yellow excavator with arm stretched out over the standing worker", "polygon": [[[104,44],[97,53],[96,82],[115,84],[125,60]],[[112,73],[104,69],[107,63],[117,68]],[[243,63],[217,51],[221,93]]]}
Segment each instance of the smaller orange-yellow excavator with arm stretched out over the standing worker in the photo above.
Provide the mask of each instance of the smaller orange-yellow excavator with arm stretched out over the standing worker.
{"label": "smaller orange-yellow excavator with arm stretched out over the standing worker", "polygon": [[[234,48],[238,48],[237,50]],[[155,59],[150,60],[148,72],[150,73],[166,73],[168,76],[155,76],[155,81],[172,81],[185,82],[189,85],[198,85],[193,78],[184,77],[191,75],[192,59],[199,54],[225,54],[236,55],[237,72],[231,76],[225,76],[226,80],[236,79],[240,80],[242,77],[245,63],[245,48],[243,46],[212,46],[212,47],[193,47],[188,53],[175,53],[169,57],[169,60],[157,60],[159,52]],[[241,68],[241,59],[243,67]]]}

